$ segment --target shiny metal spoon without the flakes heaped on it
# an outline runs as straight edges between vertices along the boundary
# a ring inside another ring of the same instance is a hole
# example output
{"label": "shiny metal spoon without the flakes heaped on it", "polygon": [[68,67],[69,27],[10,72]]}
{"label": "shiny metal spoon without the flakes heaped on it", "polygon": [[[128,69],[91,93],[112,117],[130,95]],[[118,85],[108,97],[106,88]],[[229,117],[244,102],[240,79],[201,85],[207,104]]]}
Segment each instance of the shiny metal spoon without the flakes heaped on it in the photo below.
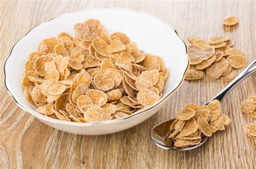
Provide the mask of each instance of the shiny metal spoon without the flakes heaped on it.
{"label": "shiny metal spoon without the flakes heaped on it", "polygon": [[[205,105],[207,105],[209,102],[211,102],[214,99],[217,99],[220,102],[223,101],[223,99],[226,97],[226,95],[228,93],[230,93],[230,91],[235,86],[237,86],[241,81],[246,79],[249,75],[251,75],[255,71],[256,71],[256,60],[254,60],[252,62],[252,64],[250,64],[248,67],[246,67],[246,69],[244,71],[242,71],[237,76],[237,78],[235,78],[232,82],[230,82],[222,91],[220,91],[219,94],[217,94],[210,101],[205,103]],[[171,133],[170,126],[174,120],[175,120],[175,118],[169,119],[168,121],[162,122],[162,123],[154,126],[154,128],[151,129],[150,136],[151,136],[151,139],[153,140],[154,144],[156,144],[157,146],[159,146],[165,150],[187,151],[187,150],[196,149],[197,147],[203,145],[206,142],[206,140],[208,139],[207,136],[203,136],[200,144],[186,147],[184,149],[178,149],[178,148],[174,147],[174,143],[173,143],[172,139],[169,138],[169,135]]]}

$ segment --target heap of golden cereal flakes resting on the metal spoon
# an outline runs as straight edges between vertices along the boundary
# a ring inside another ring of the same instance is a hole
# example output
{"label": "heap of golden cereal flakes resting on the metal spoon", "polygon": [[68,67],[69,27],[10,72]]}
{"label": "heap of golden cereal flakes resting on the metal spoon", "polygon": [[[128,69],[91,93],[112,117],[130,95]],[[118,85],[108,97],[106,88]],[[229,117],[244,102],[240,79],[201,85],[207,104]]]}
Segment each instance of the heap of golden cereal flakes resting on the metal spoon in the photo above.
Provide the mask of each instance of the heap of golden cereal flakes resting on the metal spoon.
{"label": "heap of golden cereal flakes resting on the metal spoon", "polygon": [[231,119],[221,113],[220,102],[208,105],[188,104],[176,112],[176,119],[170,126],[170,136],[177,148],[198,145],[202,137],[212,136],[218,130],[225,130]]}

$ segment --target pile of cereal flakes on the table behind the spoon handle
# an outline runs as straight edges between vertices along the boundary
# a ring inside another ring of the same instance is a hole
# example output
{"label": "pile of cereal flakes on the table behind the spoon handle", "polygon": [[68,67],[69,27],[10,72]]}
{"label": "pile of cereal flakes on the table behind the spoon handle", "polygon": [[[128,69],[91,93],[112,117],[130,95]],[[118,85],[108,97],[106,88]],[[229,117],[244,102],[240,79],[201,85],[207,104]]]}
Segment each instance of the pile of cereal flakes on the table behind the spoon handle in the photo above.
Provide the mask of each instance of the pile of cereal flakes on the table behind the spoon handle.
{"label": "pile of cereal flakes on the table behind the spoon handle", "polygon": [[245,67],[245,54],[232,47],[233,41],[225,36],[211,37],[205,41],[198,37],[188,37],[191,43],[188,46],[190,69],[185,76],[186,80],[205,78],[205,73],[211,80],[222,79],[232,81],[238,73],[235,69]]}

